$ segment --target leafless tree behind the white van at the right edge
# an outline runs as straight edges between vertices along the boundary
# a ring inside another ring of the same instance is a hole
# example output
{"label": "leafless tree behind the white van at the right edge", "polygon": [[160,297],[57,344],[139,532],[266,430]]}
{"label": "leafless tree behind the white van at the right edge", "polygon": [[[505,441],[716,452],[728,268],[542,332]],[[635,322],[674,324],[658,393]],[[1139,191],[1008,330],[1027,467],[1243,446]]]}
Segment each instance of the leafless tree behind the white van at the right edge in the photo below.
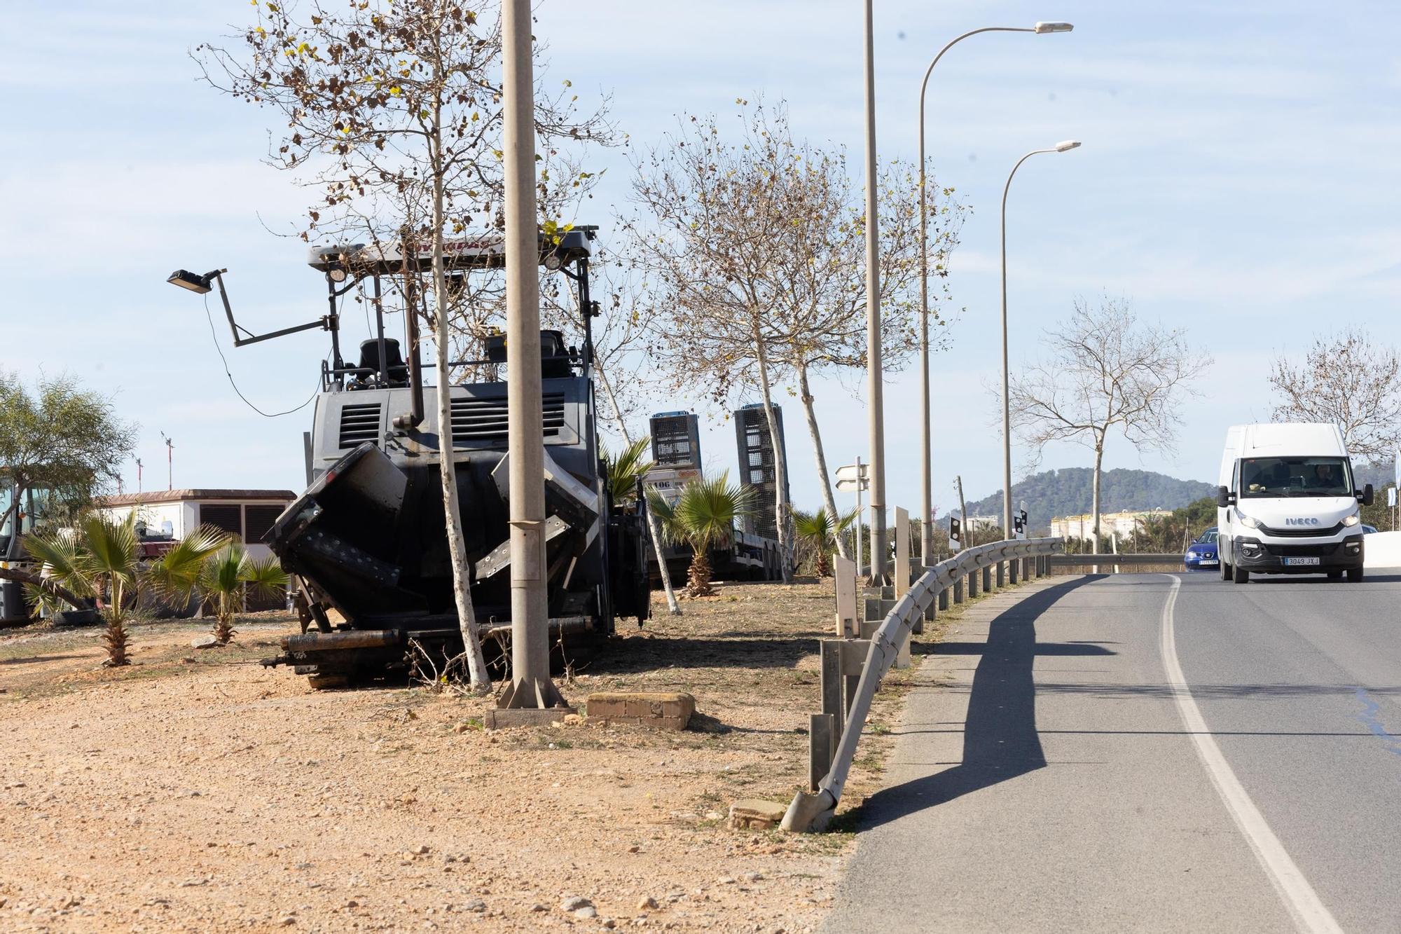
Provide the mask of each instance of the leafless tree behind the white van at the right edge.
{"label": "leafless tree behind the white van at the right edge", "polygon": [[1381,460],[1401,442],[1401,356],[1358,328],[1316,338],[1303,363],[1276,356],[1269,387],[1275,421],[1331,422],[1351,454]]}

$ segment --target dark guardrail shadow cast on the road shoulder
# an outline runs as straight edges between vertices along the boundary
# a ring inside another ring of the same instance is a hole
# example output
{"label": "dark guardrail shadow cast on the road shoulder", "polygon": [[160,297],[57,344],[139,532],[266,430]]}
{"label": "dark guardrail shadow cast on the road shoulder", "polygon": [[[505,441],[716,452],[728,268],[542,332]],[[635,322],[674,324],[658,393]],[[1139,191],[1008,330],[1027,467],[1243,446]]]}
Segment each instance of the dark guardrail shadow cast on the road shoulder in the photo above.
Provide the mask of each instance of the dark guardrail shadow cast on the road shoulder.
{"label": "dark guardrail shadow cast on the road shoulder", "polygon": [[1066,593],[1096,579],[1098,578],[1076,578],[1027,596],[992,621],[985,644],[936,645],[936,651],[948,654],[982,652],[968,696],[962,763],[876,792],[862,806],[859,825],[863,829],[953,801],[1047,764],[1037,735],[1037,686],[1031,673],[1037,655],[1042,651],[1048,655],[1100,656],[1114,652],[1093,644],[1037,642],[1035,621]]}

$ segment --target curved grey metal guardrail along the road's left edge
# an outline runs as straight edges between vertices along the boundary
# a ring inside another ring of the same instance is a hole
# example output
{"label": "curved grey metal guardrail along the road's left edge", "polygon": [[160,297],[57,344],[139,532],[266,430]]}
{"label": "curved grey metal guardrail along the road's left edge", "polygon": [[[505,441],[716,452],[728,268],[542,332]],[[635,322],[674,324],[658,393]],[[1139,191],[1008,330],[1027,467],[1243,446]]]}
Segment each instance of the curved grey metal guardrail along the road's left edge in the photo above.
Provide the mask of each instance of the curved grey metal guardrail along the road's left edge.
{"label": "curved grey metal guardrail along the road's left edge", "polygon": [[842,798],[842,788],[846,785],[852,759],[856,756],[856,743],[860,740],[862,726],[866,724],[866,715],[870,712],[871,698],[880,679],[890,670],[916,621],[925,618],[939,595],[982,568],[991,568],[1005,561],[1051,555],[1063,547],[1065,539],[995,541],[968,548],[936,564],[911,585],[870,637],[870,648],[866,652],[866,662],[862,665],[860,682],[848,698],[842,738],[832,754],[831,769],[815,791],[799,791],[793,797],[793,802],[783,816],[785,830],[807,833],[827,829],[827,823],[836,811],[836,802]]}

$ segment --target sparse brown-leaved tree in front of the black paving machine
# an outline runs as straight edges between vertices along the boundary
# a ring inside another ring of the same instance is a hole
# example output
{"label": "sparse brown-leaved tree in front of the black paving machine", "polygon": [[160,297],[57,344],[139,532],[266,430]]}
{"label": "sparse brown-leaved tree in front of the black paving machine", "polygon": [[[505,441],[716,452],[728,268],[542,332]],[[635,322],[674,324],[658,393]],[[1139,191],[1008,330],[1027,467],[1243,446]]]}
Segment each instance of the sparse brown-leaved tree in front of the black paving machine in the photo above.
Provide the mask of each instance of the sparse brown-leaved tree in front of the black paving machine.
{"label": "sparse brown-leaved tree in front of the black paving machine", "polygon": [[[444,262],[448,236],[503,226],[497,7],[488,0],[312,1],[301,11],[254,0],[254,7],[256,22],[237,36],[238,53],[214,45],[198,49],[205,77],[286,119],[269,163],[301,170],[303,184],[321,195],[307,210],[303,240],[329,234],[432,252],[429,282],[413,283],[416,299],[406,302],[406,313],[422,313],[434,334],[440,450],[451,452],[454,320],[461,328],[465,318],[472,331],[478,321],[465,311],[495,307],[489,299],[500,292],[490,278],[481,286],[457,278],[462,287],[450,290]],[[576,112],[577,95],[567,87],[565,81],[566,90],[555,94],[537,88],[535,95],[545,212],[588,185],[591,175],[577,168],[570,151],[608,132],[601,114]],[[469,676],[474,689],[485,691],[490,682],[471,599],[457,477],[440,473]]]}

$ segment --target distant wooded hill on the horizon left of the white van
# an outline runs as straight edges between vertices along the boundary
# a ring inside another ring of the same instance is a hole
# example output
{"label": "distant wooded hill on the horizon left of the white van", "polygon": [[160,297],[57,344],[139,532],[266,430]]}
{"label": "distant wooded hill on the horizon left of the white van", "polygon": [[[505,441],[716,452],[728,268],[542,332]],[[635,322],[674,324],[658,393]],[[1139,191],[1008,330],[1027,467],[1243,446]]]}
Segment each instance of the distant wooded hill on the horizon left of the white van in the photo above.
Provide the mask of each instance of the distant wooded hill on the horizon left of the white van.
{"label": "distant wooded hill on the horizon left of the white van", "polygon": [[[1100,510],[1177,509],[1202,496],[1215,496],[1212,484],[1177,480],[1150,470],[1105,470],[1100,477]],[[1026,502],[1031,529],[1045,529],[1056,516],[1090,512],[1094,499],[1094,471],[1066,467],[1031,474],[1012,485],[1013,503]],[[968,502],[969,516],[1000,516],[1002,491]]]}

